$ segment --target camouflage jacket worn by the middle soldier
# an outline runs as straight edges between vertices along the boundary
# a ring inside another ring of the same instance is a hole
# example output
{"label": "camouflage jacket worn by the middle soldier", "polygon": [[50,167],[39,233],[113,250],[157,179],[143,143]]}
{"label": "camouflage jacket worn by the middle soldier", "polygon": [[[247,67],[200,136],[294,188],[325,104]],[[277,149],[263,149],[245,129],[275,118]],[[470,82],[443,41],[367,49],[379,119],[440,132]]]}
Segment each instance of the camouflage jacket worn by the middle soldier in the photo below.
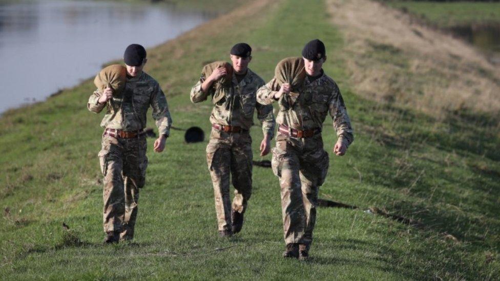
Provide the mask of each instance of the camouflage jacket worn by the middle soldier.
{"label": "camouflage jacket worn by the middle soldier", "polygon": [[[201,102],[208,96],[213,96],[214,84],[206,92],[201,91],[201,84],[205,77],[200,80],[191,89],[191,101]],[[233,74],[231,88],[222,89],[224,97],[214,104],[210,122],[212,124],[239,126],[244,129],[250,129],[253,124],[254,109],[257,109],[257,118],[262,123],[262,132],[269,137],[274,135],[275,119],[272,105],[262,105],[257,102],[256,92],[264,80],[257,74],[248,69],[245,77],[238,83],[236,75]]]}

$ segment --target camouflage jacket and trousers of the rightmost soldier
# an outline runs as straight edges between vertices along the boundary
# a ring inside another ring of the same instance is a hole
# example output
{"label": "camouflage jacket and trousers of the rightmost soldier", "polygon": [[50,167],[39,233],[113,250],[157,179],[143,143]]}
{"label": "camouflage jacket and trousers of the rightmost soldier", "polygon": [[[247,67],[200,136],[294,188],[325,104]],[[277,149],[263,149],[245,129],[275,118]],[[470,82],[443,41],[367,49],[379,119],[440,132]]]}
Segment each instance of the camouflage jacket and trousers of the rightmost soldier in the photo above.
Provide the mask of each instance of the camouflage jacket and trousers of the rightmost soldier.
{"label": "camouflage jacket and trousers of the rightmost soldier", "polygon": [[[275,101],[279,91],[276,79],[257,91],[262,104]],[[324,75],[314,81],[307,77],[299,97],[289,106],[280,99],[277,123],[298,130],[319,129],[329,113],[338,138],[348,146],[353,141],[352,128],[339,88]],[[281,206],[285,243],[310,245],[318,206],[318,189],[328,170],[328,154],[323,149],[321,133],[296,138],[279,133],[273,149],[273,172],[280,178]]]}

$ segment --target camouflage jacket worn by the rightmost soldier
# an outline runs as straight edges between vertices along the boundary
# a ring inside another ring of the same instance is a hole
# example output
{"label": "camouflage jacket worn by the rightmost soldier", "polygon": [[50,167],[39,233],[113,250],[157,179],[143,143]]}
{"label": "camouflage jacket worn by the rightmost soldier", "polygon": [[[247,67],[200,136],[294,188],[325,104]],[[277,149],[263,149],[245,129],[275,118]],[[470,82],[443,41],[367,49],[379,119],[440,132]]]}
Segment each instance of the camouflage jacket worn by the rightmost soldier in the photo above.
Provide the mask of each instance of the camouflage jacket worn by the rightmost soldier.
{"label": "camouflage jacket worn by the rightmost soldier", "polygon": [[[274,95],[279,89],[280,86],[274,78],[257,91],[257,100],[262,104],[271,104],[276,101]],[[344,100],[333,79],[322,74],[311,82],[309,77],[306,77],[298,92],[296,100],[289,101],[288,95],[279,99],[277,123],[300,130],[322,128],[329,113],[334,120],[337,137],[347,146],[354,140]]]}

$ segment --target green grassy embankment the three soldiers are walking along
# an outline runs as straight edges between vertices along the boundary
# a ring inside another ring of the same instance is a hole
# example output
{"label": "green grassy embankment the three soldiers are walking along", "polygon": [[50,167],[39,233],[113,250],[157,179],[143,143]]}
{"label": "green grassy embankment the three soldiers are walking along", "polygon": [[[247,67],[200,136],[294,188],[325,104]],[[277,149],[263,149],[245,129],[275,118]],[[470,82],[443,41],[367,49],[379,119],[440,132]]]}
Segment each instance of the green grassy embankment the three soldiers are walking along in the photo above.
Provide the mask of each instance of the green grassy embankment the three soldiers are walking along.
{"label": "green grassy embankment the three soldiers are walking along", "polygon": [[[100,245],[101,183],[96,154],[102,115],[85,108],[91,80],[47,102],[7,112],[0,123],[0,275],[26,278],[494,278],[500,274],[498,120],[471,111],[435,119],[409,106],[377,103],[351,87],[343,40],[322,1],[252,5],[149,51],[147,71],[168,96],[175,126],[209,132],[210,102],[188,94],[202,62],[227,59],[234,42],[254,48],[265,80],[276,62],[319,37],[325,71],[340,84],[356,133],[343,157],[330,153],[320,196],[361,207],[321,208],[308,263],[284,260],[278,180],[254,168],[254,194],[241,234],[216,235],[206,143],[172,131],[163,154],[149,140],[136,241]],[[311,22],[314,18],[314,23]],[[240,21],[239,25],[235,23]],[[384,49],[385,50],[385,49]],[[389,55],[379,50],[381,56]],[[377,50],[376,50],[377,52]],[[376,54],[376,52],[374,54]],[[407,67],[403,64],[403,67]],[[325,123],[326,149],[335,143]],[[149,120],[149,126],[154,126]],[[261,132],[252,132],[257,151]],[[256,156],[256,160],[260,157]],[[269,157],[265,157],[269,159]],[[362,210],[376,206],[418,221],[408,226]],[[61,226],[70,226],[66,231]]]}

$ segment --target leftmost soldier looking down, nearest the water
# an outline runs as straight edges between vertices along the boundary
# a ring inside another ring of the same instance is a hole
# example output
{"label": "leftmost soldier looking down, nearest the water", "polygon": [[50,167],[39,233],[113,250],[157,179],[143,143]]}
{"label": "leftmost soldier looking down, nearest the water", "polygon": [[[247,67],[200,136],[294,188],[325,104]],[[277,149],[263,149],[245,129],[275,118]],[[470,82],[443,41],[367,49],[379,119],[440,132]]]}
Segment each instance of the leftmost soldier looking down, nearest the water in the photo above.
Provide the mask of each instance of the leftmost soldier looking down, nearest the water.
{"label": "leftmost soldier looking down, nearest the water", "polygon": [[147,142],[143,134],[148,108],[153,108],[159,131],[154,142],[155,152],[163,151],[172,124],[169,106],[158,82],[142,71],[147,62],[145,49],[138,44],[128,46],[123,61],[127,75],[123,91],[115,93],[111,87],[98,89],[87,104],[94,113],[107,109],[101,122],[105,131],[98,154],[104,176],[105,243],[134,237],[139,188],[144,186],[148,166]]}

